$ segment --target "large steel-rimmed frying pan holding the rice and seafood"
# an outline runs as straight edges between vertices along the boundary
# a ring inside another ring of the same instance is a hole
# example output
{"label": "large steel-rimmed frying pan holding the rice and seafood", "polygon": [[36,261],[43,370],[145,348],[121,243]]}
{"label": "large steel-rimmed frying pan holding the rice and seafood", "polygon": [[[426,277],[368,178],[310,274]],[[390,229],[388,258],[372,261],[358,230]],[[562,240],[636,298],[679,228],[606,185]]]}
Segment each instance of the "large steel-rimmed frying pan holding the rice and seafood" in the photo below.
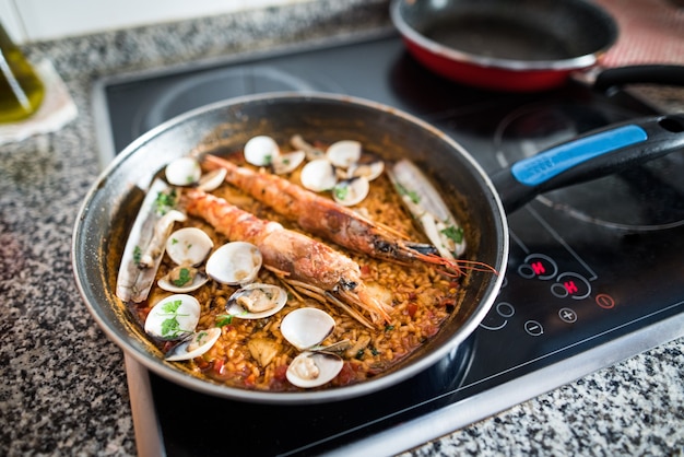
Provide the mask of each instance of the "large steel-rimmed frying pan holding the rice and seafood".
{"label": "large steel-rimmed frying pan holding the rice and seafood", "polygon": [[[616,166],[627,166],[633,161],[648,160],[684,147],[684,117],[662,117],[641,122],[641,127],[629,125],[622,129],[626,131],[587,138],[575,149],[582,155],[598,155],[595,150],[606,152],[614,149],[614,144],[625,147],[623,149],[634,142],[653,144],[636,148],[636,152],[620,151],[616,154],[620,159],[613,161],[601,161],[603,155],[614,155],[611,153],[594,157],[600,162],[598,168],[609,173]],[[200,379],[165,362],[115,295],[123,246],[145,189],[152,176],[174,159],[198,148],[215,154],[239,150],[249,138],[263,133],[279,143],[285,143],[294,133],[323,142],[357,140],[368,152],[388,161],[412,160],[434,179],[447,204],[463,223],[468,257],[494,267],[499,274],[468,274],[458,312],[432,340],[388,373],[356,385],[303,392],[253,391]],[[645,141],[644,136],[650,142]],[[431,125],[396,108],[316,93],[271,93],[224,101],[189,112],[145,133],[95,180],[80,208],[73,231],[75,281],[91,314],[113,341],[152,372],[181,386],[219,397],[269,403],[334,401],[370,394],[444,360],[477,328],[496,300],[506,271],[508,225],[504,207],[514,209],[532,198],[535,191],[553,187],[540,180],[540,175],[550,175],[552,168],[550,168],[551,162],[568,167],[567,163],[577,155],[567,150],[561,148],[552,151],[546,162],[538,160],[517,165],[512,174],[502,174],[497,179],[512,189],[502,194],[505,196],[502,201],[493,181],[463,148]],[[563,185],[568,181],[563,177],[566,174],[573,179],[588,179],[594,173],[577,165],[553,179]]]}

